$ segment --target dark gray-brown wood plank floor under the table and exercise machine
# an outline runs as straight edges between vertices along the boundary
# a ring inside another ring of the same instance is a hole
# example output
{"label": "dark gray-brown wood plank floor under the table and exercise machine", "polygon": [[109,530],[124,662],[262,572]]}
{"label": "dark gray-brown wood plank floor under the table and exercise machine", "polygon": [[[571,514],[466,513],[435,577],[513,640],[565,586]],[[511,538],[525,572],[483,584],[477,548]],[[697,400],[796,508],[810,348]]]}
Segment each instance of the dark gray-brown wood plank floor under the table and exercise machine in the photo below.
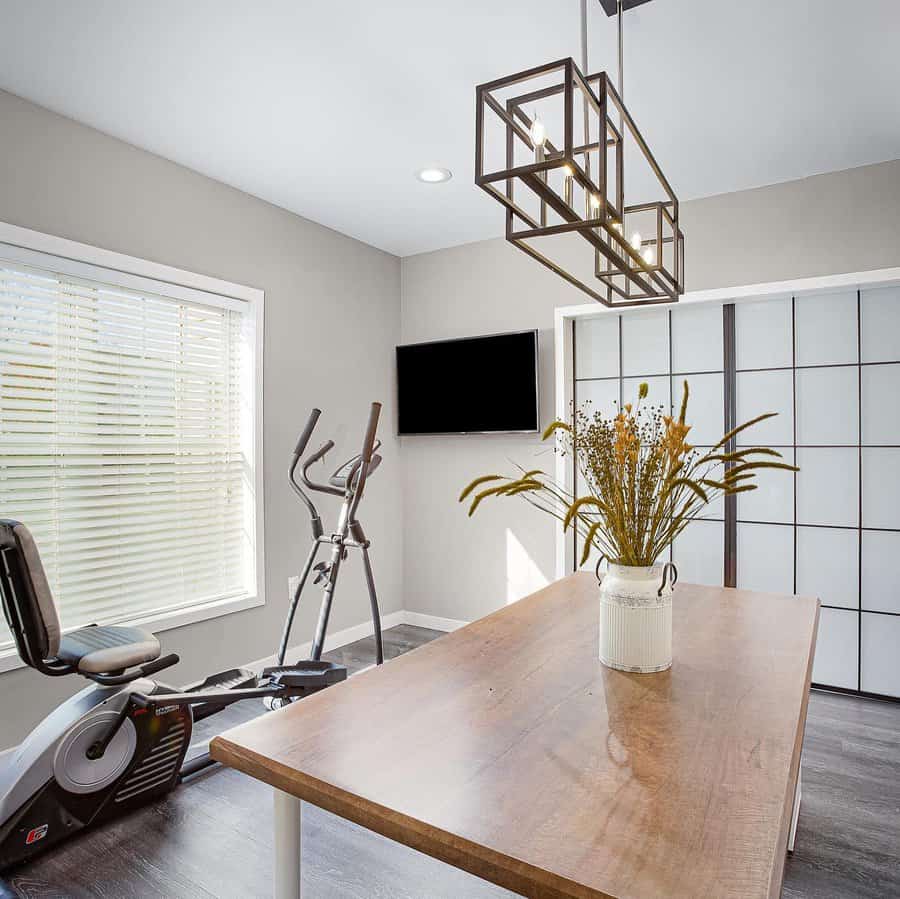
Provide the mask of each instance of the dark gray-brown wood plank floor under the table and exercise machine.
{"label": "dark gray-brown wood plank floor under the table and exercise machine", "polygon": [[[385,633],[385,656],[439,636],[408,625],[392,628]],[[373,640],[328,658],[359,671],[374,661]],[[232,706],[202,722],[195,740],[202,743],[261,712],[255,702]],[[271,807],[268,787],[235,771],[209,769],[161,802],[12,872],[0,881],[0,899],[264,899],[272,895]],[[303,840],[310,899],[513,896],[309,805]],[[813,693],[797,848],[783,895],[900,897],[900,704]]]}

